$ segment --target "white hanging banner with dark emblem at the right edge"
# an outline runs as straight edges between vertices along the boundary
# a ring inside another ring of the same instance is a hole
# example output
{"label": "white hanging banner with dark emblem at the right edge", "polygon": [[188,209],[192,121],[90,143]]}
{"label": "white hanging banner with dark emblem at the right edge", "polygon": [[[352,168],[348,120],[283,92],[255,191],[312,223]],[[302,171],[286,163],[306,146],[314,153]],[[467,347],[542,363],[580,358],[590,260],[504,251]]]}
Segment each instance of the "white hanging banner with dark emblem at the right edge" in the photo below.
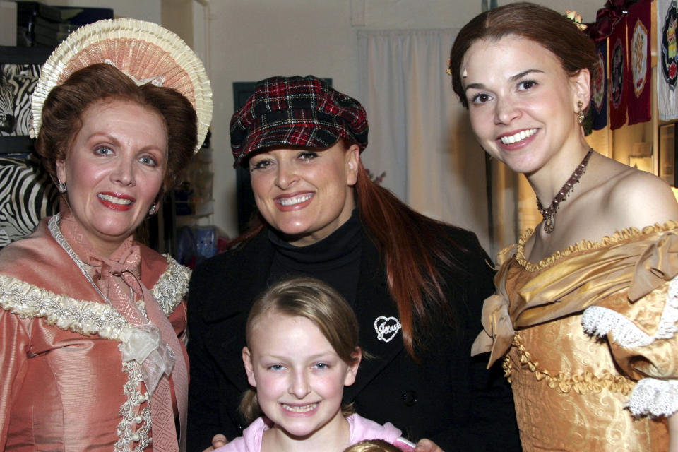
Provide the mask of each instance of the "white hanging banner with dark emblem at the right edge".
{"label": "white hanging banner with dark emblem at the right edge", "polygon": [[678,119],[678,6],[676,0],[657,2],[657,99],[659,119]]}

